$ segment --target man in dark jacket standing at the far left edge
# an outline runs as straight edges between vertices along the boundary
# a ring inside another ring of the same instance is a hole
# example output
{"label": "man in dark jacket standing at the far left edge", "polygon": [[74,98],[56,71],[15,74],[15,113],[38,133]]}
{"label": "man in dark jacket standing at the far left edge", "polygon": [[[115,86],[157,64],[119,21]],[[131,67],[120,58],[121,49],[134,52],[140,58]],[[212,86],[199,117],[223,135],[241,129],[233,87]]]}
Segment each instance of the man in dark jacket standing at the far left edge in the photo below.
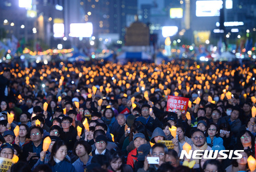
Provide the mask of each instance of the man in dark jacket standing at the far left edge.
{"label": "man in dark jacket standing at the far left edge", "polygon": [[6,100],[8,96],[8,86],[11,79],[11,70],[4,69],[4,73],[0,75],[0,101]]}

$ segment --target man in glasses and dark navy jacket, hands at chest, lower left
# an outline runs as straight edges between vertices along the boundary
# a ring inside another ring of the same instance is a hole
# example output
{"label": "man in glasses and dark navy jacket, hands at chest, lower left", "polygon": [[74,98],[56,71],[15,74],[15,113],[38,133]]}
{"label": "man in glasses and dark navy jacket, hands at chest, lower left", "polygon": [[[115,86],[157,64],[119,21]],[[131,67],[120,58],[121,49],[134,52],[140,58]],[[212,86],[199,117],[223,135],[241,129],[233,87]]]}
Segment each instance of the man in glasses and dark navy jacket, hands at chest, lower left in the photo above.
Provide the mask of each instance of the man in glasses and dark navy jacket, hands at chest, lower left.
{"label": "man in glasses and dark navy jacket, hands at chest, lower left", "polygon": [[29,131],[31,141],[23,145],[21,160],[27,161],[31,168],[40,159],[40,153],[43,151],[43,132],[41,127],[31,127]]}

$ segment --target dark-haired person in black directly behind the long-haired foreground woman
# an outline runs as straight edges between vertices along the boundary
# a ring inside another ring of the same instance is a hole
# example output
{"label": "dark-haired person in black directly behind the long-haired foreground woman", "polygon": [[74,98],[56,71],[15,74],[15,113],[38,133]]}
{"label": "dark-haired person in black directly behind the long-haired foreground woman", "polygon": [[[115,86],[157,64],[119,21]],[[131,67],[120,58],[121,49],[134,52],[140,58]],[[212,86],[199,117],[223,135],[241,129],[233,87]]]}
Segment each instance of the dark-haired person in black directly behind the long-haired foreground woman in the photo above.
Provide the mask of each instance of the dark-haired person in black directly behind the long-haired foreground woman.
{"label": "dark-haired person in black directly behind the long-haired foreground woman", "polygon": [[62,118],[62,132],[60,138],[66,142],[68,150],[73,150],[76,142],[77,131],[72,126],[73,119],[69,116]]}

